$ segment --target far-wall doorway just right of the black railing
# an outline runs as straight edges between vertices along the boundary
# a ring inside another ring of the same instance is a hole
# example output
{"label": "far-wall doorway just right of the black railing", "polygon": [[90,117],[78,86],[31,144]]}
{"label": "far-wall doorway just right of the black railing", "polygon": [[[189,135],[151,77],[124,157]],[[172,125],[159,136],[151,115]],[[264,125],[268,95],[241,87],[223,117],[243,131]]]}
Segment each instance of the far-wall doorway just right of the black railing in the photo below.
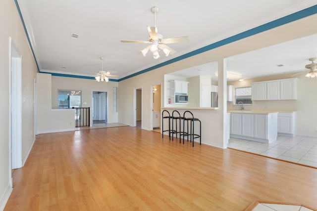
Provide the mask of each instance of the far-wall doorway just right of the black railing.
{"label": "far-wall doorway just right of the black railing", "polygon": [[93,91],[93,125],[107,123],[107,92]]}

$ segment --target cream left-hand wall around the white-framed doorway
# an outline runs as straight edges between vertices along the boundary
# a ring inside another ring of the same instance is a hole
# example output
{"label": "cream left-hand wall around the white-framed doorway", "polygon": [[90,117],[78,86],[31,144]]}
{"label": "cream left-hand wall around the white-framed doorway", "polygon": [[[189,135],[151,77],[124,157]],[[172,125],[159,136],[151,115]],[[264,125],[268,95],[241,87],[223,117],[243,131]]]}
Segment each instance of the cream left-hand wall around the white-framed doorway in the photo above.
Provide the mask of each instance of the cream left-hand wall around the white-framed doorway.
{"label": "cream left-hand wall around the white-framed doorway", "polygon": [[[9,186],[9,37],[22,55],[22,159],[34,142],[34,79],[37,71],[21,20],[13,0],[0,6],[0,210],[10,193]],[[32,132],[32,134],[30,134]],[[14,181],[13,181],[14,183]]]}

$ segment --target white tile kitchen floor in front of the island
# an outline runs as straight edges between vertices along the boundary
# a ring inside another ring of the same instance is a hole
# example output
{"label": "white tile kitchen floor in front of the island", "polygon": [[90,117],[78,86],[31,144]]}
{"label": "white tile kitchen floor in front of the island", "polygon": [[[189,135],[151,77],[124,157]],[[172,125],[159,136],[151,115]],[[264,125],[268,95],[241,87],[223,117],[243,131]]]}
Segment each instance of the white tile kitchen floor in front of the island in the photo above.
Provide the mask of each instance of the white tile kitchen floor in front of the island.
{"label": "white tile kitchen floor in front of the island", "polygon": [[314,137],[278,136],[277,140],[271,143],[230,138],[228,147],[317,167],[317,138]]}

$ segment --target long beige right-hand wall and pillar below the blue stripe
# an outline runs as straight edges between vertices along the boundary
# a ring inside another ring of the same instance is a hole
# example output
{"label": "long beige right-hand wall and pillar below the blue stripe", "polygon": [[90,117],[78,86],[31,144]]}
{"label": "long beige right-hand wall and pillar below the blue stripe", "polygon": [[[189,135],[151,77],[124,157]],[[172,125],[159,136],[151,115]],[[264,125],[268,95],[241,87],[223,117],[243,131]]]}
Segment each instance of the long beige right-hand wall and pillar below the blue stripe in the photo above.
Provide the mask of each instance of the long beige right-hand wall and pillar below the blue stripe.
{"label": "long beige right-hand wall and pillar below the blue stripe", "polygon": [[[208,113],[210,122],[204,122],[204,127],[210,130],[207,136],[212,136],[212,140],[208,141],[209,144],[215,146],[223,146],[224,137],[226,134],[226,121],[224,120],[227,103],[223,93],[226,93],[226,79],[224,70],[226,69],[225,58],[240,53],[256,50],[265,46],[286,42],[301,38],[304,36],[317,33],[317,28],[306,27],[314,25],[317,22],[317,15],[313,15],[278,28],[274,28],[263,33],[242,39],[237,42],[232,42],[224,46],[217,47],[210,51],[200,53],[189,58],[177,61],[175,63],[160,67],[153,71],[132,77],[130,79],[119,82],[119,122],[130,124],[133,123],[133,89],[143,87],[143,121],[142,126],[145,129],[150,128],[151,113],[150,113],[150,98],[152,94],[151,84],[162,83],[162,89],[169,79],[164,79],[164,74],[172,73],[189,67],[205,64],[212,61],[218,61],[218,93],[219,93],[219,110],[218,112]],[[223,60],[224,59],[224,60]],[[163,92],[164,107],[168,107],[166,90]],[[262,105],[258,105],[259,107]],[[206,116],[206,115],[205,115]],[[300,127],[300,126],[299,126]],[[206,137],[206,136],[205,136]]]}

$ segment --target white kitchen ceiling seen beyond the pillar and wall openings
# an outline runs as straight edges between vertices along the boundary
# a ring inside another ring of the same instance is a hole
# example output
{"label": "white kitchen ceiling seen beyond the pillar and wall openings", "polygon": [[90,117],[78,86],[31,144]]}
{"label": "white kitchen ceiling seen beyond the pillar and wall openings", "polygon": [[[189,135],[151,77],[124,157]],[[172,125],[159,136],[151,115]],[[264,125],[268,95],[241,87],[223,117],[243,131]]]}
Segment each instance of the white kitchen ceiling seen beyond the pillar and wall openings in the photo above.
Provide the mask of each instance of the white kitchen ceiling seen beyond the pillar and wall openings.
{"label": "white kitchen ceiling seen beyond the pillar and wall openings", "polygon": [[[227,72],[240,76],[238,78],[241,79],[290,72],[294,72],[294,75],[299,72],[304,74],[305,65],[311,63],[308,59],[312,57],[317,57],[317,34],[228,57]],[[186,78],[203,75],[210,76],[212,81],[217,81],[215,76],[217,68],[217,62],[211,62],[169,75]],[[228,79],[228,81],[232,80]]]}

